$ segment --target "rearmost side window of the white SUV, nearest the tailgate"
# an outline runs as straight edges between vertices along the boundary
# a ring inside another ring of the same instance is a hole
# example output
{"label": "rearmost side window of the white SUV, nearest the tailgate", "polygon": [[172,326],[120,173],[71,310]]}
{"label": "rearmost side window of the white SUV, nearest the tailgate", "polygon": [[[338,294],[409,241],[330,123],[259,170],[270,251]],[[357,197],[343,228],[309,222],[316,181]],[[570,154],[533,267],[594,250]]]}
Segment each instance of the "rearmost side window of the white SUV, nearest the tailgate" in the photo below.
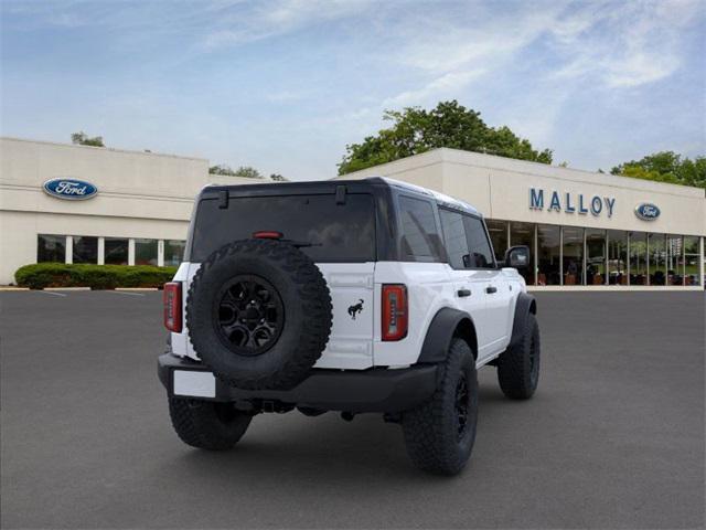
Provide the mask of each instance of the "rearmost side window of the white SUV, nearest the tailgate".
{"label": "rearmost side window of the white SUV, nearest the tailgate", "polygon": [[440,241],[431,202],[402,195],[399,218],[403,253],[422,261],[439,259]]}

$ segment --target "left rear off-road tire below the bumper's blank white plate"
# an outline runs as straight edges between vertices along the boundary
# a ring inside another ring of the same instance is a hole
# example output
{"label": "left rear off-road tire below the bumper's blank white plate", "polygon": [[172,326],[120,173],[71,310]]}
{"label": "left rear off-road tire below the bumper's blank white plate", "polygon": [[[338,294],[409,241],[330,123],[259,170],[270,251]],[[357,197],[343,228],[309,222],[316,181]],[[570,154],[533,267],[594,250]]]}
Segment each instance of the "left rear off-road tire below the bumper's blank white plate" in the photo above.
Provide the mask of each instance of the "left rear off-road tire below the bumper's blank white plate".
{"label": "left rear off-road tire below the bumper's blank white plate", "polygon": [[170,398],[169,415],[182,442],[208,451],[233,448],[253,418],[232,403],[179,398]]}

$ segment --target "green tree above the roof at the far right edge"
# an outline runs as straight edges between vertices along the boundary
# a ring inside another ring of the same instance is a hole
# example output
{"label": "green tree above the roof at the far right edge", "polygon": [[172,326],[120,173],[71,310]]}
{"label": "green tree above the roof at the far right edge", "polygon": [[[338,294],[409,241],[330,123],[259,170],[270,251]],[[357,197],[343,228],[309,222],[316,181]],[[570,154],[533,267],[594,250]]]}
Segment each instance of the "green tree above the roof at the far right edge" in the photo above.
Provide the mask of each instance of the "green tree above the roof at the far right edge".
{"label": "green tree above the roof at the far right edge", "polygon": [[610,170],[612,174],[622,174],[634,179],[668,182],[672,184],[694,186],[706,189],[706,157],[694,160],[682,158],[674,151],[660,151],[640,160],[630,160]]}

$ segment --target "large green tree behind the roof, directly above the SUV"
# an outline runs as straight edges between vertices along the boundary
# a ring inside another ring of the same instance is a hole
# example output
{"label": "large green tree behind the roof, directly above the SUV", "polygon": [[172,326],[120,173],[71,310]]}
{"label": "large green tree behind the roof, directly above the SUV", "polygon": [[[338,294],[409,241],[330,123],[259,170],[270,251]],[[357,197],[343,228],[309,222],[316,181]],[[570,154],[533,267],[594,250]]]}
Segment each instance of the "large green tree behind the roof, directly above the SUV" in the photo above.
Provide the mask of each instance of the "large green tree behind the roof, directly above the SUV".
{"label": "large green tree behind the roof, directly above the SUV", "polygon": [[361,144],[345,146],[339,174],[438,147],[552,163],[552,150],[537,151],[530,140],[520,138],[509,127],[489,127],[480,116],[456,99],[440,102],[431,110],[419,107],[385,110],[383,119],[392,121],[392,126],[379,130],[376,136],[364,138]]}

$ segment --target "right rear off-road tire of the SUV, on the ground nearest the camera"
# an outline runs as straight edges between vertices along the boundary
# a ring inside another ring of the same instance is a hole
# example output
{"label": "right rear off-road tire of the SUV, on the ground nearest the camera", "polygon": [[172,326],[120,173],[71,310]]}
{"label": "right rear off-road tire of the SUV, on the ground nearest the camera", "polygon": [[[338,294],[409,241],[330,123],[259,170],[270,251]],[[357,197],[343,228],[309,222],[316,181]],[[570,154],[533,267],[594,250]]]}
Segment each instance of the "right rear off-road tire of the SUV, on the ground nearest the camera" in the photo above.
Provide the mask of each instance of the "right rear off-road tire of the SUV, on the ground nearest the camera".
{"label": "right rear off-road tire of the SUV, on the ground nearest the camera", "polygon": [[[437,475],[456,475],[471,456],[478,421],[478,375],[468,343],[453,339],[447,359],[439,365],[440,382],[432,398],[418,409],[403,413],[402,426],[413,463]],[[464,375],[468,388],[466,428],[460,434],[457,389]]]}

